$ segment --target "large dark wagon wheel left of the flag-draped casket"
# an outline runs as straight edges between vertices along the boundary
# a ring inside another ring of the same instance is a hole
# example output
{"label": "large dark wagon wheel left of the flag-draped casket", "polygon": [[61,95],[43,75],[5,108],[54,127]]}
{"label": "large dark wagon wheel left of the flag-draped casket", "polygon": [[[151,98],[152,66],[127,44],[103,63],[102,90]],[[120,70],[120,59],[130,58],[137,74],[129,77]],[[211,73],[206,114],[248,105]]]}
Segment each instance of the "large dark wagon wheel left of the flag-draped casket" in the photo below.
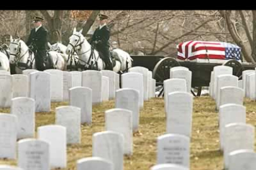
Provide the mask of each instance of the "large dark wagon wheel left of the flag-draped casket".
{"label": "large dark wagon wheel left of the flag-draped casket", "polygon": [[156,92],[160,91],[158,97],[163,96],[163,81],[170,78],[170,68],[176,66],[180,66],[179,62],[171,57],[165,57],[156,63],[153,70],[153,78],[156,79]]}

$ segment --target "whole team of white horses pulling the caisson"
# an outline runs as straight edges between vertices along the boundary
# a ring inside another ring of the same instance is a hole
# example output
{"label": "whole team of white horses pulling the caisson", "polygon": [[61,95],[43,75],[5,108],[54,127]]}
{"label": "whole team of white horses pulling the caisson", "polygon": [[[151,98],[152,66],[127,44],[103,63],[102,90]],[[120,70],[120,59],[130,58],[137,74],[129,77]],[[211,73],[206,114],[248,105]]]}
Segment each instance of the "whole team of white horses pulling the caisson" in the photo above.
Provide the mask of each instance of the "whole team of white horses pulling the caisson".
{"label": "whole team of white horses pulling the caisson", "polygon": [[[82,30],[74,28],[69,38],[68,46],[57,42],[51,45],[48,42],[48,59],[51,67],[58,70],[104,70],[105,63],[96,51],[82,35]],[[115,59],[113,71],[124,72],[132,67],[132,58],[121,49],[113,49]],[[15,73],[22,73],[22,70],[36,69],[35,55],[28,48],[22,39],[10,38],[9,47],[2,47],[0,50],[0,70],[11,71],[10,64],[15,65]]]}

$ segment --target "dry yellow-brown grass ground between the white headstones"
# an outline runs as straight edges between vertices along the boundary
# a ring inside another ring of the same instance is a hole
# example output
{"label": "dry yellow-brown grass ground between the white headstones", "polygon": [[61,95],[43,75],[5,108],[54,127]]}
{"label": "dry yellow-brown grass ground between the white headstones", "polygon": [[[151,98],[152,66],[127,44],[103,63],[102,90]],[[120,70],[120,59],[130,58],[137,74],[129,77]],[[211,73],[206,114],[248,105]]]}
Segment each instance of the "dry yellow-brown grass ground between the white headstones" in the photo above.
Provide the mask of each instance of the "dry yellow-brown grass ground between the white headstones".
{"label": "dry yellow-brown grass ground between the white headstones", "polygon": [[[55,108],[68,105],[67,102],[51,103],[51,112],[36,113],[36,128],[54,124]],[[246,122],[255,126],[256,105],[244,100]],[[76,169],[76,161],[92,156],[92,135],[105,130],[105,111],[114,108],[114,100],[93,105],[93,124],[82,124],[81,144],[67,145],[67,168]],[[9,109],[1,109],[9,113]],[[134,153],[124,156],[124,170],[148,170],[156,164],[156,139],[166,131],[163,98],[152,98],[144,102],[140,111],[139,132],[134,133]],[[17,161],[1,160],[0,164],[16,165]],[[208,96],[194,97],[192,137],[190,139],[191,170],[222,170],[223,153],[220,152],[218,113],[215,101]]]}

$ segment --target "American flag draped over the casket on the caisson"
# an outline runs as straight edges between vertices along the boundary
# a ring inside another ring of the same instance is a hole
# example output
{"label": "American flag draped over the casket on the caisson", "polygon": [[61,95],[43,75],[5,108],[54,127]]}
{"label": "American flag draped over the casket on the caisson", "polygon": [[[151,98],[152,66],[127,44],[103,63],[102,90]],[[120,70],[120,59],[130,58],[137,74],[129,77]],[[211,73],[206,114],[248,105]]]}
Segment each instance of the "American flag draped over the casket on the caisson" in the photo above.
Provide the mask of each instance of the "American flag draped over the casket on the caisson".
{"label": "American flag draped over the casket on the caisson", "polygon": [[177,45],[177,59],[235,59],[241,57],[241,47],[216,41],[187,41]]}

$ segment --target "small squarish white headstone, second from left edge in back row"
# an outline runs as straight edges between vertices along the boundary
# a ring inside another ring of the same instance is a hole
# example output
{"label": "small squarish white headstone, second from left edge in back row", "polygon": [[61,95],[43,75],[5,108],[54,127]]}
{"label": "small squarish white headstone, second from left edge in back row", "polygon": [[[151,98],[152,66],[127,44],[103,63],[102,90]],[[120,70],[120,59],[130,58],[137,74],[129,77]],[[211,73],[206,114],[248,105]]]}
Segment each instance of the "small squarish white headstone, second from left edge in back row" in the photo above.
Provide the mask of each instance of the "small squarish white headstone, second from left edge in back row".
{"label": "small squarish white headstone, second from left edge in back row", "polygon": [[28,76],[27,75],[12,75],[12,91],[14,97],[28,96]]}

